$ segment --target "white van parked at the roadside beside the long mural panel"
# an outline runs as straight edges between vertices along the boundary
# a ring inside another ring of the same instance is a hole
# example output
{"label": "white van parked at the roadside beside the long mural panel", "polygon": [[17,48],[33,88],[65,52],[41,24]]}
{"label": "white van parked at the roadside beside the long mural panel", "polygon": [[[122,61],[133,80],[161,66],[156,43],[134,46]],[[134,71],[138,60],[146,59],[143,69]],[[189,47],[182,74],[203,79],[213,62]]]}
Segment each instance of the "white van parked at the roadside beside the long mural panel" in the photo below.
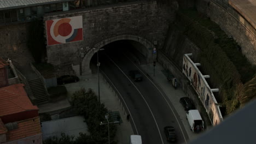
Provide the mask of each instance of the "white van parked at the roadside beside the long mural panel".
{"label": "white van parked at the roadside beside the long mural panel", "polygon": [[198,110],[189,110],[187,112],[187,119],[190,125],[190,129],[194,133],[199,133],[205,129],[205,123],[203,122]]}

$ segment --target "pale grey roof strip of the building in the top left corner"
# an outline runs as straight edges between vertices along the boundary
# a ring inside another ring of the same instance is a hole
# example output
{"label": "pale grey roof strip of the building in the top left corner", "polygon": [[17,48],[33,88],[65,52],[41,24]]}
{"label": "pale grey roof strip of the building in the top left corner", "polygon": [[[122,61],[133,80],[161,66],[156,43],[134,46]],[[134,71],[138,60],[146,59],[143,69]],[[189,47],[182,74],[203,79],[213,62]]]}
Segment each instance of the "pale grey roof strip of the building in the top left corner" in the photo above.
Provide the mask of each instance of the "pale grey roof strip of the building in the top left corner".
{"label": "pale grey roof strip of the building in the top left corner", "polygon": [[33,5],[67,2],[71,0],[1,0],[0,10],[28,7]]}

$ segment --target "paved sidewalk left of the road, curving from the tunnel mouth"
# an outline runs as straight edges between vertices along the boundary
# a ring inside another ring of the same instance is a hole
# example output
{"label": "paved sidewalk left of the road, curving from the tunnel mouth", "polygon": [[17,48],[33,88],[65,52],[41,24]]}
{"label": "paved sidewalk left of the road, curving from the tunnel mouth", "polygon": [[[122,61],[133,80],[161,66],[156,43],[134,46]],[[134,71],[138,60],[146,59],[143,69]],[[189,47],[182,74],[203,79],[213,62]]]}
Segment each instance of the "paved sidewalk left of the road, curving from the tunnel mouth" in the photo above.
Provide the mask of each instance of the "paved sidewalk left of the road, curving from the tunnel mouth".
{"label": "paved sidewalk left of the road, curving from the tunnel mouth", "polygon": [[[80,88],[85,88],[88,90],[91,88],[98,95],[98,75],[86,75],[80,76],[80,81],[75,83],[66,84],[68,91],[68,97],[70,98],[72,94],[79,90]],[[130,122],[126,121],[126,113],[123,110],[123,107],[120,105],[118,97],[115,95],[112,88],[109,87],[107,82],[103,80],[103,76],[100,75],[100,96],[101,103],[103,103],[108,110],[110,111],[119,111],[123,123],[117,125],[117,135],[115,139],[119,144],[129,143],[130,135],[133,135],[133,130]]]}

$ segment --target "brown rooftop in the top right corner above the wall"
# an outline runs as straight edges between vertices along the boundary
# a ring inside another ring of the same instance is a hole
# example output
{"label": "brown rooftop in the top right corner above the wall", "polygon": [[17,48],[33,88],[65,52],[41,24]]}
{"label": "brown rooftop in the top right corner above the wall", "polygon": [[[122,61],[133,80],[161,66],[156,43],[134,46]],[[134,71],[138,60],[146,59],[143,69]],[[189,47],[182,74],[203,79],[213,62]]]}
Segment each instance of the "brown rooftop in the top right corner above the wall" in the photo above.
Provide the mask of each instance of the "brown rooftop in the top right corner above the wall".
{"label": "brown rooftop in the top right corner above the wall", "polygon": [[229,0],[229,4],[256,28],[256,1],[255,0]]}

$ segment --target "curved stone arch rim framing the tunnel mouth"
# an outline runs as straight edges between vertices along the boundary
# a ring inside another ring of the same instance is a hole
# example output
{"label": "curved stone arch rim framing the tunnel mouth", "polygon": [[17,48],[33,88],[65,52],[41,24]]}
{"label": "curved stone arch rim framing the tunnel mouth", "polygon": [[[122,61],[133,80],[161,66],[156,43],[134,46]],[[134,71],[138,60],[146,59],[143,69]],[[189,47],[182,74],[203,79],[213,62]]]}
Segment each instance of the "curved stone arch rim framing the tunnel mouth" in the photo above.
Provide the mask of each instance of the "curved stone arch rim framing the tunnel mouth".
{"label": "curved stone arch rim framing the tunnel mouth", "polygon": [[[97,43],[94,46],[94,48],[96,50],[99,50],[104,45],[110,44],[117,40],[134,40],[134,41],[137,41],[138,43],[144,45],[147,49],[147,53],[146,53],[147,62],[153,62],[153,49],[155,48],[155,46],[149,40],[144,39],[139,36],[136,36],[136,35],[124,34],[124,35],[118,35],[116,37],[108,38],[108,39],[100,41],[100,43]],[[92,47],[90,47],[90,49],[88,50],[88,52],[86,53],[86,55],[84,56],[83,61],[82,61],[82,75],[91,74],[90,60],[93,55],[94,55],[94,50],[92,49]],[[155,53],[155,56],[156,56],[156,53]]]}

